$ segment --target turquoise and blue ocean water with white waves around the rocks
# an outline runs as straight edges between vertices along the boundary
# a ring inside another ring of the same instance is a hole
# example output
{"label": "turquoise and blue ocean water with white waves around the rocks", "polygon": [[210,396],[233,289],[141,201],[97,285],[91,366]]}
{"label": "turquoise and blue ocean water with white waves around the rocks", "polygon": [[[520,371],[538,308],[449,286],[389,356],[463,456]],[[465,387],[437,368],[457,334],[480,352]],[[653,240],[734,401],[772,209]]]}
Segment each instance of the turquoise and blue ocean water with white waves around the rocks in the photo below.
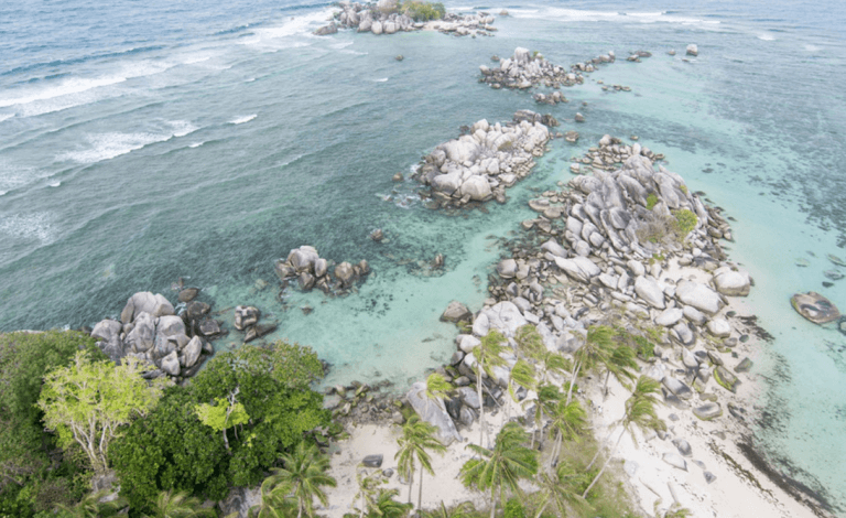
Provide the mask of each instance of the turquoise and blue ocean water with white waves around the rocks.
{"label": "turquoise and blue ocean water with white waves around the rocks", "polygon": [[[570,158],[603,134],[638,136],[733,218],[729,253],[773,335],[756,359],[756,449],[846,516],[846,336],[789,303],[813,290],[846,310],[846,280],[824,276],[846,273],[827,258],[846,258],[843,4],[447,8],[510,15],[494,37],[318,37],[327,3],[0,4],[0,331],[93,325],[137,291],[175,301],[183,278],[224,320],[257,305],[279,324],[271,338],[332,364],[327,382],[402,388],[452,355],[455,326],[438,316],[452,300],[480,307],[525,202],[566,182]],[[685,61],[688,43],[699,55]],[[517,46],[565,66],[611,50],[618,61],[547,107],[477,83]],[[626,62],[637,50],[653,55]],[[518,109],[582,139],[554,141],[505,205],[425,208],[408,180],[421,157]],[[369,239],[376,228],[384,241]],[[373,273],[346,298],[280,293],[273,262],[301,245]]]}

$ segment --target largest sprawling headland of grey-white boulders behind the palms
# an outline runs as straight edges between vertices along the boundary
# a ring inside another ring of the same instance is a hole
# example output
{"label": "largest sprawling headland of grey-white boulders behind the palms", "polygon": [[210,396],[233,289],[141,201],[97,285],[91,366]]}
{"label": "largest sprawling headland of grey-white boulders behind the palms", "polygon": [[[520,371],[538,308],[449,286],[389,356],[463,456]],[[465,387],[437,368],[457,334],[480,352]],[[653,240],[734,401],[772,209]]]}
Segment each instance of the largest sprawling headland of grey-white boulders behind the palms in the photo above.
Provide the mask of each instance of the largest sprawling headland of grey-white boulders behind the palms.
{"label": "largest sprawling headland of grey-white boulders behind the palms", "polygon": [[[608,148],[619,145],[614,142],[606,137],[600,148],[610,153]],[[717,390],[709,389],[719,385],[735,391],[738,375],[751,367],[748,358],[731,367],[723,356],[737,357],[734,348],[748,339],[739,333],[747,331],[741,319],[725,310],[727,296],[747,295],[752,282],[747,272],[725,261],[717,241],[730,234],[718,212],[690,194],[677,174],[655,170],[640,154],[642,149],[636,150],[620,170],[597,170],[571,181],[568,190],[546,192],[532,202],[545,224],[522,226],[531,234],[531,245],[514,248],[512,257],[497,265],[485,306],[474,314],[453,302],[442,315],[444,321],[463,322],[467,330],[456,338],[451,365],[440,369],[457,389],[438,404],[420,396],[423,384],[406,396],[417,413],[438,427],[442,442],[458,440],[458,430],[469,427],[479,406],[498,407],[507,390],[517,361],[510,349],[502,354],[506,365],[484,379],[484,401],[471,387],[473,350],[481,337],[496,330],[513,346],[525,324],[535,326],[549,350],[565,355],[582,347],[593,324],[614,322],[636,335],[652,330],[662,348],[641,359],[646,374],[662,382],[665,401],[692,409],[702,420],[723,416]],[[651,215],[666,217],[680,209],[697,216],[686,236],[677,242],[640,241],[640,226]],[[715,384],[709,385],[712,378]],[[742,410],[731,404],[729,413],[741,419]]]}

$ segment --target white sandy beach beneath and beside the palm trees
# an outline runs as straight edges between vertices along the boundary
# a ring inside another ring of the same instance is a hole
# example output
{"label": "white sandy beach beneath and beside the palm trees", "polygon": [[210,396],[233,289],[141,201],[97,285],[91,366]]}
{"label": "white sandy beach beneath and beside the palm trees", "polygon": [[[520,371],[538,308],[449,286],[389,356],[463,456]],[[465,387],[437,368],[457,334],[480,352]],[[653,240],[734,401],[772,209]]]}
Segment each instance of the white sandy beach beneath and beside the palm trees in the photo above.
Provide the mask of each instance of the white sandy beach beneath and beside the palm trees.
{"label": "white sandy beach beneath and beside the palm trees", "polygon": [[[725,310],[737,311],[740,315],[751,314],[748,304],[744,301],[737,301]],[[760,346],[761,344],[752,338],[746,344],[739,344],[736,350],[741,353],[739,355],[741,357],[749,355],[755,359],[757,354],[761,354]],[[735,363],[739,363],[739,359]],[[711,384],[708,388],[722,391],[723,401],[733,401],[752,411],[758,393],[753,373],[751,376],[747,375],[748,377],[738,386],[737,393],[730,397],[727,397],[728,391],[716,384]],[[601,441],[608,436],[610,430],[614,430],[610,441],[614,442],[620,433],[617,420],[622,416],[629,392],[611,378],[609,395],[604,399],[599,381],[595,376],[589,380],[583,379],[583,386],[587,389],[577,395],[577,398],[585,408],[592,409],[589,416],[593,418],[592,425],[597,441]],[[512,419],[524,412],[510,401],[509,404]],[[614,476],[625,481],[632,504],[643,515],[657,516],[655,509],[665,511],[670,505],[677,501],[679,505],[692,511],[691,516],[702,518],[821,516],[798,501],[752,465],[738,447],[738,443],[748,441],[750,431],[727,410],[722,418],[714,421],[702,421],[690,411],[668,404],[659,404],[658,414],[668,424],[666,438],[661,440],[654,433],[644,436],[638,429],[636,429],[634,439],[629,433],[625,433],[615,460],[611,461]],[[491,436],[506,423],[506,417],[505,410],[499,410],[492,417],[486,414],[486,425],[491,431]],[[751,420],[751,416],[748,420]],[[347,432],[349,438],[334,443],[329,450],[330,473],[337,479],[338,486],[327,492],[330,507],[323,512],[332,518],[340,518],[345,512],[351,511],[355,495],[358,492],[356,474],[362,470],[361,460],[371,454],[382,454],[384,460],[381,470],[394,472],[384,487],[399,489],[398,500],[408,501],[409,486],[397,475],[394,461],[401,427],[391,423],[369,423],[347,427]],[[462,465],[473,456],[465,446],[478,442],[479,422],[474,422],[473,428],[463,429],[459,433],[464,442],[453,443],[444,455],[432,455],[435,476],[427,473],[424,475],[422,500],[424,509],[433,509],[442,501],[447,507],[467,500],[471,501],[477,509],[487,506],[484,495],[465,488],[458,479]],[[672,443],[675,438],[684,439],[691,445],[692,455],[684,457],[687,464],[686,471],[673,467],[662,460],[664,453],[679,453]],[[373,473],[376,470],[367,471]],[[715,476],[712,483],[705,478],[706,471]],[[419,474],[415,475],[412,486],[411,500],[415,508],[419,482],[416,477],[419,476]],[[527,485],[527,489],[532,490],[533,487]]]}

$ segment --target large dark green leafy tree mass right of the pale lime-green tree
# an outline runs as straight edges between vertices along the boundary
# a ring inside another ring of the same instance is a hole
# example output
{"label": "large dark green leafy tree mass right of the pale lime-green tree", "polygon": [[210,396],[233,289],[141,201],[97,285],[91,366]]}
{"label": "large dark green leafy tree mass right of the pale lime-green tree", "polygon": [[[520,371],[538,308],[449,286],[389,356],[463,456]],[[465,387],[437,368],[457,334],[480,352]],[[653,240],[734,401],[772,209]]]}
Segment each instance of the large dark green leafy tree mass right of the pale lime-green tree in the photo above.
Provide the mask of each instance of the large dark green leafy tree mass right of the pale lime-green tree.
{"label": "large dark green leafy tree mass right of the pale lime-green tree", "polygon": [[[322,373],[307,347],[245,345],[218,353],[187,387],[167,389],[109,451],[133,511],[145,510],[163,489],[221,499],[232,485],[261,482],[306,432],[329,423],[323,397],[308,389]],[[227,452],[221,430],[204,424],[196,408],[235,392],[249,420],[223,431]]]}

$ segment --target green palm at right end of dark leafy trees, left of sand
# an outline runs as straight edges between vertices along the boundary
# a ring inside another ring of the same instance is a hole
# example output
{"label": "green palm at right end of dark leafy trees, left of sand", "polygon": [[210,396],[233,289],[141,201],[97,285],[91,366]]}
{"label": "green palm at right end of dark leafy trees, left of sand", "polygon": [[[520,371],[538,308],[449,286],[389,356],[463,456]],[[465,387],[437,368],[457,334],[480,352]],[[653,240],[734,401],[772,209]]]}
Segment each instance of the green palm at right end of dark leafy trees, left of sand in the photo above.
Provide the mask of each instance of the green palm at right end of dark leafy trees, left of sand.
{"label": "green palm at right end of dark leafy trees, left of sand", "polygon": [[273,470],[280,483],[290,485],[297,503],[296,518],[302,518],[303,511],[314,516],[314,498],[321,504],[329,504],[322,486],[335,487],[335,478],[327,475],[329,460],[314,444],[301,441],[293,453],[281,456],[284,467]]}

